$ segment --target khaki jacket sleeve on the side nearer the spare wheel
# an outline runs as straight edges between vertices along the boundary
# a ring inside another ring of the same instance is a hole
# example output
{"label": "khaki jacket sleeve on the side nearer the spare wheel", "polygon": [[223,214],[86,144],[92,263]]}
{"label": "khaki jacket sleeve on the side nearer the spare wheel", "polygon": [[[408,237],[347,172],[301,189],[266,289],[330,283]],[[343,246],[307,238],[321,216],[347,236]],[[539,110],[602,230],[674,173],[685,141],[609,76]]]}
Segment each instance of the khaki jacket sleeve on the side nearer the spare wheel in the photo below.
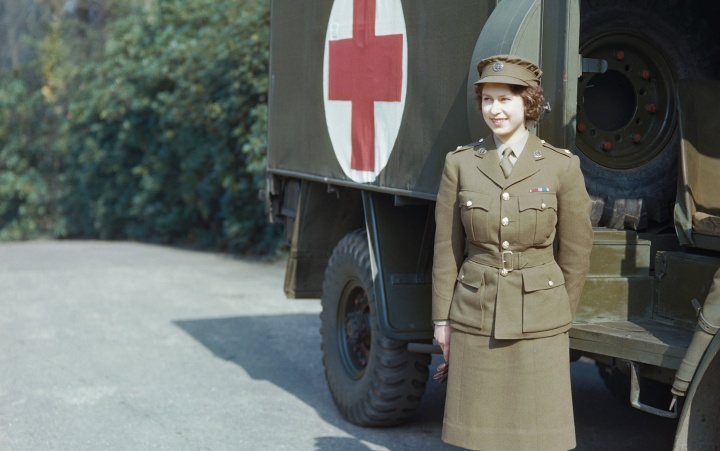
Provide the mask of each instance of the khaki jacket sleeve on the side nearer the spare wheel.
{"label": "khaki jacket sleeve on the side nearer the spare wheel", "polygon": [[590,196],[580,171],[580,159],[573,155],[561,176],[558,192],[557,262],[565,277],[565,289],[573,316],[590,268],[593,230]]}

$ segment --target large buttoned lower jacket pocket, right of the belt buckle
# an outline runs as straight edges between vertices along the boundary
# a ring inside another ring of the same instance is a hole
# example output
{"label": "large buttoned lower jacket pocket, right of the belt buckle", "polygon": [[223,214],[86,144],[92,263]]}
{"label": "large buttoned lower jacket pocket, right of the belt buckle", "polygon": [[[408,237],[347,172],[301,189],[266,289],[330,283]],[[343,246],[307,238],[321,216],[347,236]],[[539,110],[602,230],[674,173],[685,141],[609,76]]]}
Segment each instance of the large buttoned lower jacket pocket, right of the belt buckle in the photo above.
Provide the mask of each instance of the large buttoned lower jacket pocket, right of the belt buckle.
{"label": "large buttoned lower jacket pocket, right of the belt buckle", "polygon": [[555,262],[522,270],[523,332],[542,332],[570,324],[565,278]]}

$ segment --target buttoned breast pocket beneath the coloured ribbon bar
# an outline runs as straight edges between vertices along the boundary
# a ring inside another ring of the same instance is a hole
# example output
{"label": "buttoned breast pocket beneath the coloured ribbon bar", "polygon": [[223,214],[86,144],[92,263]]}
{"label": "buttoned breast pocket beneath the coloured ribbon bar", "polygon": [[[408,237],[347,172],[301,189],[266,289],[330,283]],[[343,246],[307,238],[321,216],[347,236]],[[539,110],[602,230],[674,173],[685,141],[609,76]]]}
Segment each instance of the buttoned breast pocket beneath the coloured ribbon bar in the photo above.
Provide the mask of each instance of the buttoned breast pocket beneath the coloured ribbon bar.
{"label": "buttoned breast pocket beneath the coloured ribbon bar", "polygon": [[521,244],[544,244],[557,224],[555,193],[534,193],[518,197]]}

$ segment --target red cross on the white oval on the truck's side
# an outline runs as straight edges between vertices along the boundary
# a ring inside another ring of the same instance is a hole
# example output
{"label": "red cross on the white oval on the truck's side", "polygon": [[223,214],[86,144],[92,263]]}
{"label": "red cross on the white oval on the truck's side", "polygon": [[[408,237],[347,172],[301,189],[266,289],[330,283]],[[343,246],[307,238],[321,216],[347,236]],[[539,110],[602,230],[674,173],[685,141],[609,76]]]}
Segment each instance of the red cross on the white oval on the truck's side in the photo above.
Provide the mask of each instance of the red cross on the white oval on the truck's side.
{"label": "red cross on the white oval on the truck's side", "polygon": [[353,37],[330,41],[328,98],[352,102],[350,167],[375,170],[376,101],[399,102],[403,35],[375,35],[375,1],[353,0]]}

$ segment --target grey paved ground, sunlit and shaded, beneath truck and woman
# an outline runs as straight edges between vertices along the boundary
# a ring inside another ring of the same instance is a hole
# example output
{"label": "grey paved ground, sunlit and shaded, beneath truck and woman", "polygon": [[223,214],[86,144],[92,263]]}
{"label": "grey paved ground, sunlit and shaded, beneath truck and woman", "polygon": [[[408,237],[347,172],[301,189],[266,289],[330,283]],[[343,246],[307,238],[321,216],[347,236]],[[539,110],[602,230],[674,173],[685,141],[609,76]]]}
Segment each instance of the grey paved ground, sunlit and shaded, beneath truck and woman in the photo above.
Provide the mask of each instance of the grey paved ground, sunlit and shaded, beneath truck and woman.
{"label": "grey paved ground, sunlit and shaded, beneath truck and woman", "polygon": [[[319,302],[284,261],[133,243],[0,245],[0,450],[445,450],[444,388],[363,429],[325,386]],[[437,363],[437,359],[436,359]],[[674,424],[572,365],[579,450],[670,449]]]}

